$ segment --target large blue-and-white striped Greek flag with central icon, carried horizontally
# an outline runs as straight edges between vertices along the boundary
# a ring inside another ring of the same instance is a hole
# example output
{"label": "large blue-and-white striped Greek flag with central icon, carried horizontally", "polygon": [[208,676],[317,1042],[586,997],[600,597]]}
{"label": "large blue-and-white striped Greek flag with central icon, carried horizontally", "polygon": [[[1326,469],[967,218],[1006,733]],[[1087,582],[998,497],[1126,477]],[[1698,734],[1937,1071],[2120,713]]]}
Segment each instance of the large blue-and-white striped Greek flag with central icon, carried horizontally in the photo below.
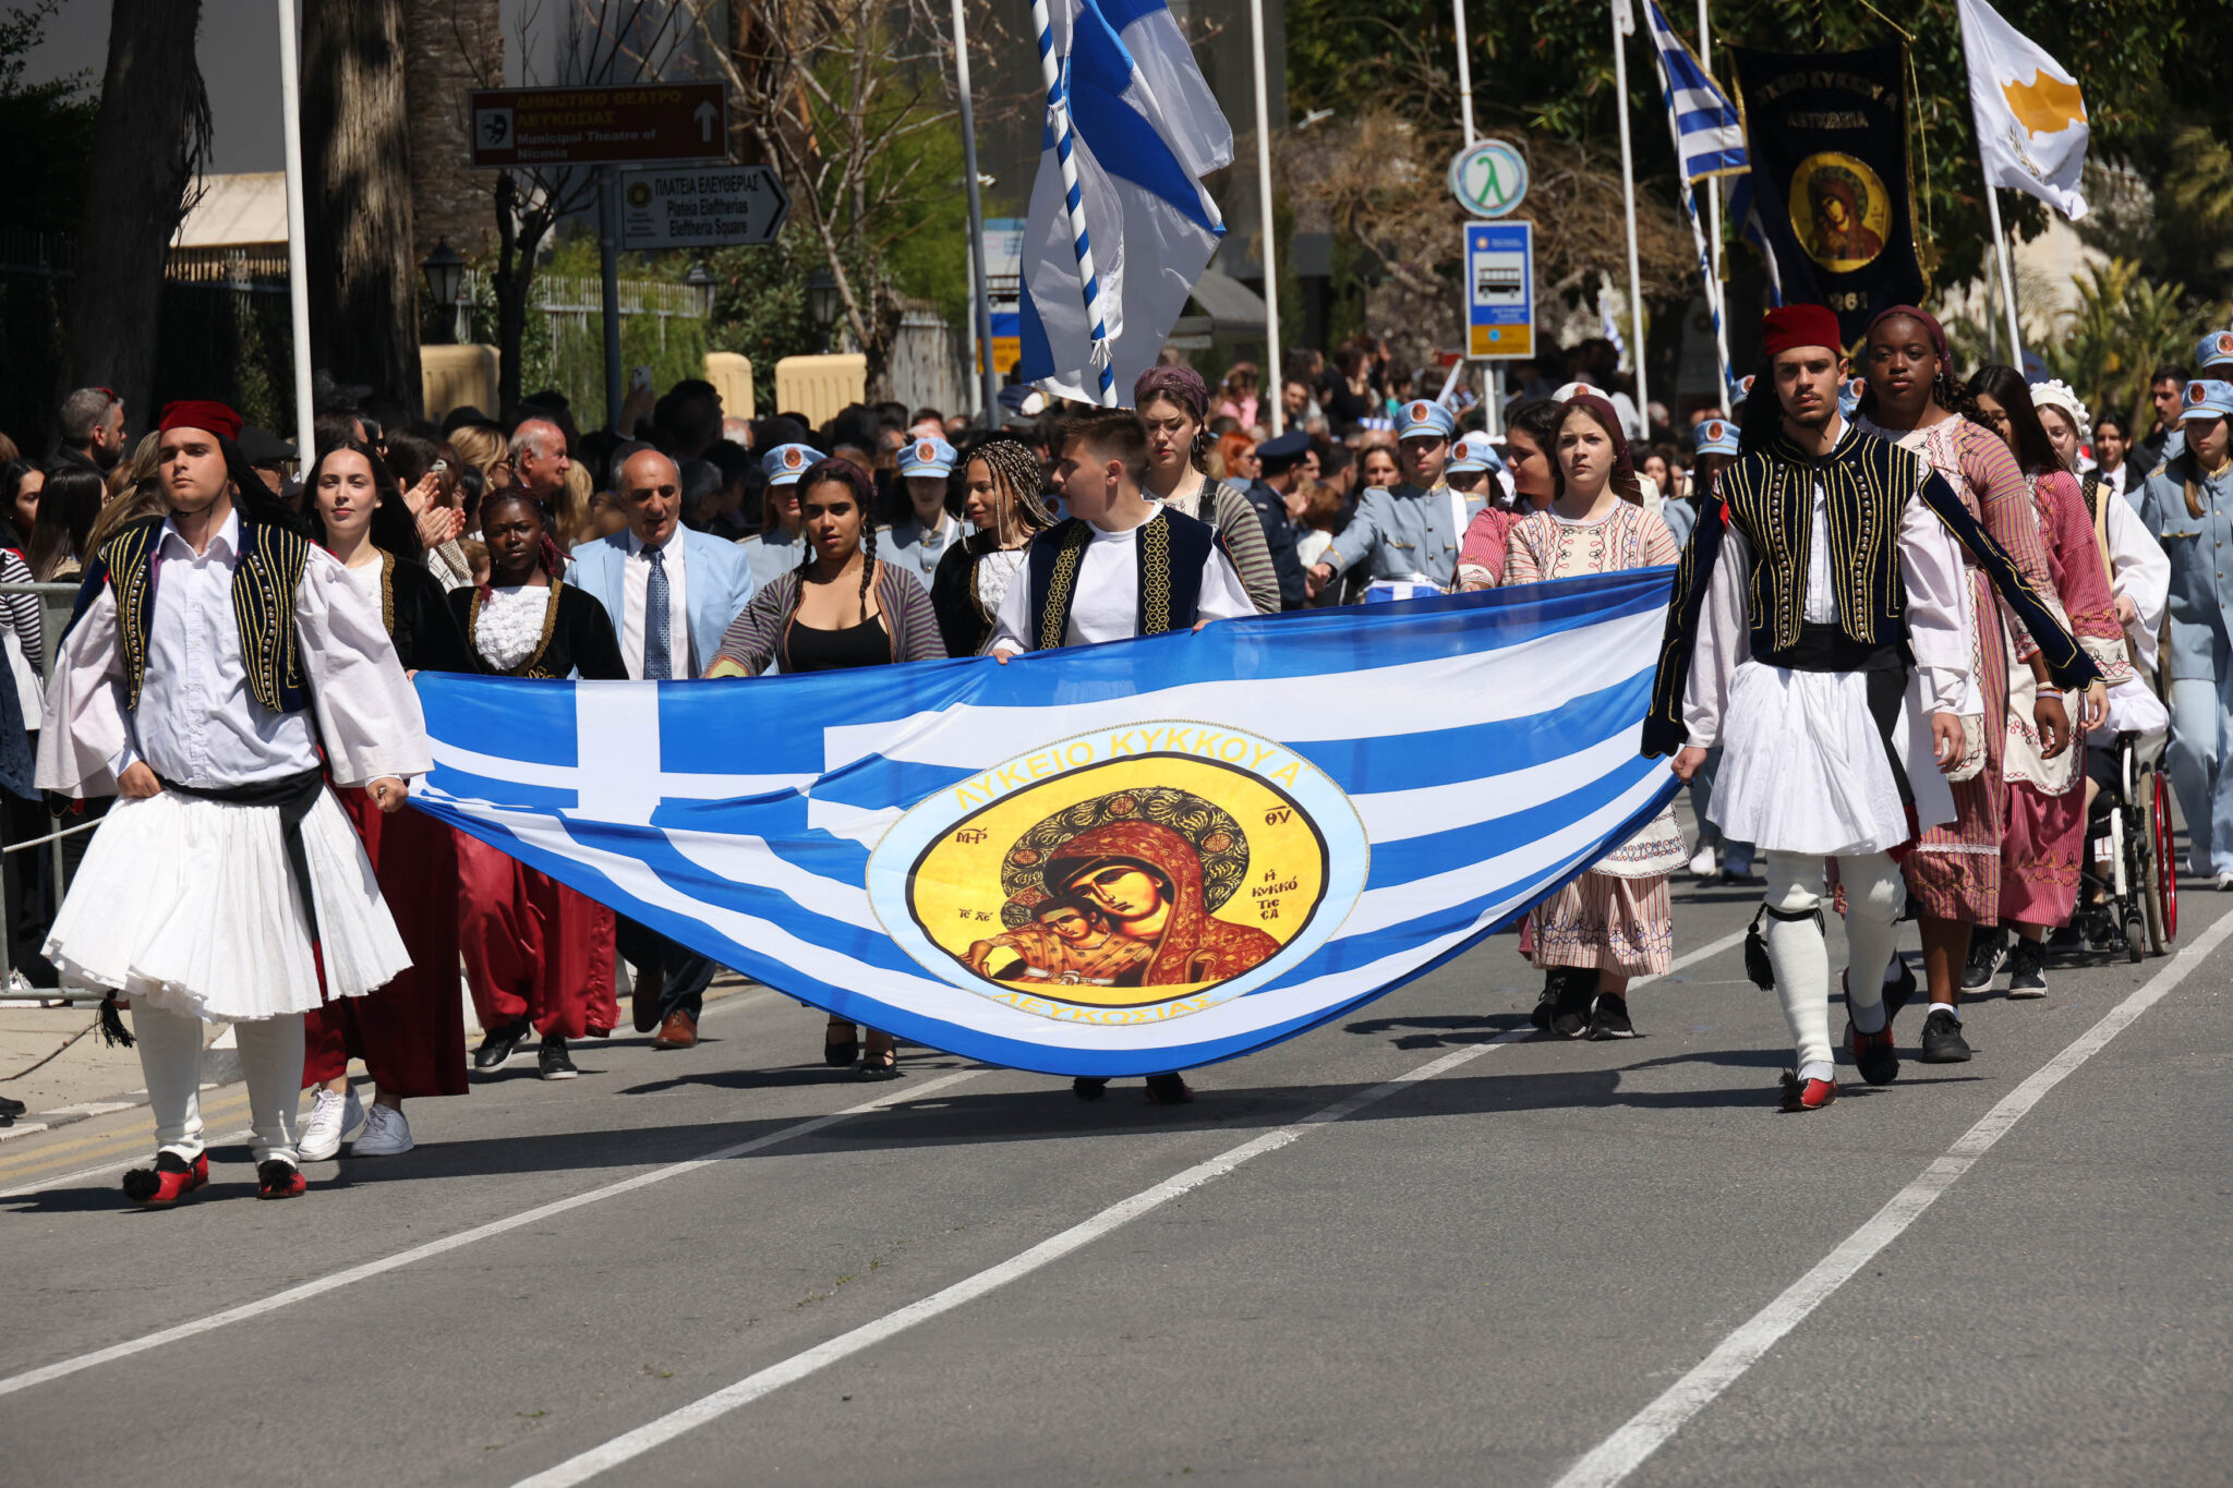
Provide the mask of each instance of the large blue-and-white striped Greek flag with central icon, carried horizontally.
{"label": "large blue-and-white striped Greek flag with central icon, carried horizontally", "polygon": [[715,683],[420,674],[413,803],[820,1008],[1054,1075],[1230,1060],[1675,792],[1668,571]]}

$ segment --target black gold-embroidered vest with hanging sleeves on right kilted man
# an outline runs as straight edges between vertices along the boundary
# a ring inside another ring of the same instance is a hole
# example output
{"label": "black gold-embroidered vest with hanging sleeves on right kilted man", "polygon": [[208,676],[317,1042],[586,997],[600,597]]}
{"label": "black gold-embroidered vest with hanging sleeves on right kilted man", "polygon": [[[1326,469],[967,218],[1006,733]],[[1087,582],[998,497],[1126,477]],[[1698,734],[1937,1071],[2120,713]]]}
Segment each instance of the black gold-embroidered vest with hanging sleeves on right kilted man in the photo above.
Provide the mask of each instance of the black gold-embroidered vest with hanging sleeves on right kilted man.
{"label": "black gold-embroidered vest with hanging sleeves on right kilted man", "polygon": [[[1681,721],[1684,687],[1690,680],[1690,647],[1697,616],[1713,584],[1722,533],[1735,526],[1753,547],[1744,613],[1753,656],[1780,665],[1800,645],[1806,605],[1806,569],[1813,544],[1813,484],[1822,482],[1829,515],[1831,582],[1838,587],[1838,634],[1862,656],[1907,638],[1907,584],[1900,578],[1900,520],[1907,497],[1923,504],[1954,533],[1983,569],[1992,587],[2016,611],[2057,687],[2079,689],[2101,671],[2057,620],[2007,551],[1992,540],[1954,489],[1920,455],[1847,424],[1844,437],[1822,460],[1800,453],[1777,431],[1766,448],[1740,455],[1722,471],[1713,497],[1697,515],[1690,544],[1675,569],[1659,645],[1659,676],[1652,709],[1643,721],[1643,754],[1673,754],[1688,738]],[[1815,640],[1815,645],[1820,645]]]}

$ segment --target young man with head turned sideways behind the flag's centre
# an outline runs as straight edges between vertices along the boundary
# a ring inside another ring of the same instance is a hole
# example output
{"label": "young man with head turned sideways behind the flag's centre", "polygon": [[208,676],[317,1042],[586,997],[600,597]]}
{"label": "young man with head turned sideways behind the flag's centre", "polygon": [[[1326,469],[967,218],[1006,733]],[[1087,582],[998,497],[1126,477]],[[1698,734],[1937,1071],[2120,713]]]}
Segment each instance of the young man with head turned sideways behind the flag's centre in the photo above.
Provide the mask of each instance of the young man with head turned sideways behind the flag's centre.
{"label": "young man with head turned sideways behind the flag's centre", "polygon": [[[1087,413],[1056,435],[1054,482],[1070,515],[1032,538],[1000,600],[991,654],[1003,665],[1025,651],[1199,631],[1257,613],[1217,535],[1152,500],[1146,473],[1148,431],[1132,413]],[[1108,1080],[1081,1075],[1070,1089],[1101,1100]],[[1148,1100],[1192,1098],[1177,1073],[1148,1075]]]}

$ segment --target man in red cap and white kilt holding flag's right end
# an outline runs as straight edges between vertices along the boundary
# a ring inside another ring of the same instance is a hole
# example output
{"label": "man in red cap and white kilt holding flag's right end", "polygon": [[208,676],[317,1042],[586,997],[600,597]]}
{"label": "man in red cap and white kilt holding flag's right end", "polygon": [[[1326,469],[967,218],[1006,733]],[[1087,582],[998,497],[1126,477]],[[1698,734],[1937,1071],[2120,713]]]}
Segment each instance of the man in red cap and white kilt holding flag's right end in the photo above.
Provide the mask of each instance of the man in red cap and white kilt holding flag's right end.
{"label": "man in red cap and white kilt holding flag's right end", "polygon": [[2095,669],[1943,477],[1840,417],[1836,315],[1771,310],[1762,341],[1744,453],[1675,573],[1643,752],[1675,754],[1688,781],[1722,745],[1715,823],[1769,854],[1766,959],[1795,1051],[1782,1104],[1818,1111],[1838,1098],[1824,857],[1847,895],[1847,1049],[1869,1084],[1900,1069],[1882,993],[1905,899],[1891,850],[1954,817],[1940,770],[1963,756],[1967,709],[1961,551],[2059,683]]}

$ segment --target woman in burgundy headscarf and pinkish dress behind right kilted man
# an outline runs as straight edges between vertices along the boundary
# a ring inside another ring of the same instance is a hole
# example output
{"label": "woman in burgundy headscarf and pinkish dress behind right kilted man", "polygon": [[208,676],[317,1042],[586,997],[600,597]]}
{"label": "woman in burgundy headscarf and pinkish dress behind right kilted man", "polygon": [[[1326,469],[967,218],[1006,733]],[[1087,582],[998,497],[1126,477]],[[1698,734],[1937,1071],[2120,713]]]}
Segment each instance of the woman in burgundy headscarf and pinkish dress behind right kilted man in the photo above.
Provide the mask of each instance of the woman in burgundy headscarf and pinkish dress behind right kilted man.
{"label": "woman in burgundy headscarf and pinkish dress behind right kilted man", "polygon": [[[1869,321],[1862,375],[1869,390],[1860,402],[1858,428],[1923,457],[1961,497],[1978,526],[2001,544],[2019,582],[2039,600],[2054,591],[2048,553],[2039,542],[2039,518],[2016,457],[1978,422],[1976,399],[1954,381],[1945,330],[1914,306],[1894,306]],[[1755,384],[1746,404],[1744,444],[1755,431],[1777,426],[1775,390]],[[2007,825],[2007,783],[2001,779],[2005,745],[2010,660],[2045,683],[2048,660],[2032,634],[1963,549],[1970,589],[1972,676],[1965,689],[1965,756],[1947,772],[1954,788],[1954,821],[1923,832],[1903,872],[1914,895],[1923,930],[1923,970],[1932,1008],[1923,1022],[1923,1062],[1958,1064],[1970,1057],[1961,1035],[1961,991],[1985,986],[1970,968],[1970,935],[2001,924],[2001,837]],[[2088,689],[2099,703],[2106,692]],[[2090,703],[2090,705],[2092,705]],[[2041,687],[2032,703],[2032,727],[2043,759],[2070,747],[2070,714],[2061,694]],[[1967,968],[1967,970],[1965,970]],[[1903,964],[1894,957],[1887,979]]]}

